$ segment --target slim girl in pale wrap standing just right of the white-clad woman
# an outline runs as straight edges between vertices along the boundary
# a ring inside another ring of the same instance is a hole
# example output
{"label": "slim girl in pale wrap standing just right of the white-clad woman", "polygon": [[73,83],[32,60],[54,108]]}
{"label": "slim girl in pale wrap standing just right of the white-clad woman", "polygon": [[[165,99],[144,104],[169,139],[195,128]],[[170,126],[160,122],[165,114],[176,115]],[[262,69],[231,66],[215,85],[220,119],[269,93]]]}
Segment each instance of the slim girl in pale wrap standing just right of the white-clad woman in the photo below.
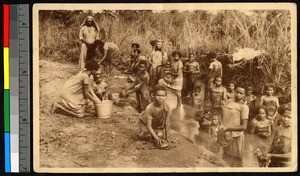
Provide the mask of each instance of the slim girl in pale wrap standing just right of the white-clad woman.
{"label": "slim girl in pale wrap standing just right of the white-clad woman", "polygon": [[171,62],[171,72],[174,78],[173,88],[176,89],[177,94],[181,97],[182,83],[183,83],[183,64],[180,60],[181,53],[179,51],[174,51],[172,53],[173,60]]}

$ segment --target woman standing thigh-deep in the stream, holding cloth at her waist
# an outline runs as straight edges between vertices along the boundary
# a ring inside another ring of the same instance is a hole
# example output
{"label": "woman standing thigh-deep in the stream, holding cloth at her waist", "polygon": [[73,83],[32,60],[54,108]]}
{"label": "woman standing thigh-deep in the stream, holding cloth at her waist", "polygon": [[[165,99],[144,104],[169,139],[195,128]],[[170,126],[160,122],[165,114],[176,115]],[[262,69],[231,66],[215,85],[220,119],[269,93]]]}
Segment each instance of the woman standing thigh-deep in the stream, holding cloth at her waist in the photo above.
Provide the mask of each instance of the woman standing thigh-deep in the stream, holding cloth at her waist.
{"label": "woman standing thigh-deep in the stream, holding cloth at her waist", "polygon": [[244,131],[247,129],[249,107],[245,104],[245,87],[237,85],[234,99],[228,100],[222,107],[223,117],[218,131],[218,143],[223,147],[224,155],[238,160],[242,166],[244,151]]}

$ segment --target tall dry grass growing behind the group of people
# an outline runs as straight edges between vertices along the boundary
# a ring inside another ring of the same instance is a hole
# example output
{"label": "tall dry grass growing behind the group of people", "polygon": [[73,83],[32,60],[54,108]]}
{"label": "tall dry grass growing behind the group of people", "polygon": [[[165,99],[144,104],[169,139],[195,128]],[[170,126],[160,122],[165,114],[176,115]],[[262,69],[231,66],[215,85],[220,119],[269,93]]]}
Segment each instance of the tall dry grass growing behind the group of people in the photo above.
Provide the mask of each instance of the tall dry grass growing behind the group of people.
{"label": "tall dry grass growing behind the group of people", "polygon": [[[40,59],[77,63],[79,25],[88,14],[83,11],[40,11]],[[132,42],[141,45],[144,55],[151,51],[150,40],[161,38],[170,53],[180,48],[187,56],[192,45],[198,58],[208,51],[233,53],[234,49],[253,48],[268,52],[260,70],[225,72],[225,78],[239,77],[257,86],[262,93],[266,82],[274,82],[283,99],[290,99],[291,22],[285,10],[255,10],[245,14],[236,10],[160,12],[103,11],[94,14],[105,41],[116,43],[129,54]],[[200,58],[205,63],[204,58]],[[204,64],[205,65],[205,64]],[[231,74],[231,75],[230,75]],[[228,80],[225,79],[225,83]]]}

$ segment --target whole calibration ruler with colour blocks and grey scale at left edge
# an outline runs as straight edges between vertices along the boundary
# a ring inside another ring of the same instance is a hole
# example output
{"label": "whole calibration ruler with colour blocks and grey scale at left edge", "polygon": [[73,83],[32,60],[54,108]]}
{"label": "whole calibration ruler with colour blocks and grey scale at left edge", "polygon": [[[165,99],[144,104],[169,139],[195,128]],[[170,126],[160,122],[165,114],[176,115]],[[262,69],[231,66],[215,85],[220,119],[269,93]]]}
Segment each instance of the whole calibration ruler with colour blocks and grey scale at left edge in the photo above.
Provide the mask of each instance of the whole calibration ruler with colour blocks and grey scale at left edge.
{"label": "whole calibration ruler with colour blocks and grey scale at left edge", "polygon": [[3,5],[5,172],[30,172],[29,5]]}

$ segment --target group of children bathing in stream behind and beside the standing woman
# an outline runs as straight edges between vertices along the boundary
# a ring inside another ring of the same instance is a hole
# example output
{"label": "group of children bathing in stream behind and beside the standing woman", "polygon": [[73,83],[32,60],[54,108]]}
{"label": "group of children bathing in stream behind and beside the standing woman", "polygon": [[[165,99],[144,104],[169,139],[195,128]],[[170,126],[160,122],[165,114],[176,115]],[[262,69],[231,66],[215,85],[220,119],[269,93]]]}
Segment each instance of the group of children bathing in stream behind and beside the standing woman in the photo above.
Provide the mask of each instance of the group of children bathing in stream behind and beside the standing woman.
{"label": "group of children bathing in stream behind and beside the standing woman", "polygon": [[[280,125],[280,114],[278,113],[279,101],[274,96],[273,84],[266,84],[266,94],[261,96],[260,99],[253,94],[253,85],[248,84],[245,88],[245,96],[243,98],[244,104],[249,108],[249,119],[247,129],[251,134],[257,134],[260,137],[270,137],[271,132]],[[211,116],[204,116],[196,114],[204,119],[200,120],[200,126],[212,126],[212,131],[218,130],[220,123],[216,123],[216,117],[222,115],[222,108],[229,100],[235,97],[235,83],[229,82],[227,89],[222,86],[222,78],[216,77],[214,85],[210,88],[209,100],[211,103],[212,112]],[[199,119],[199,117],[197,117]],[[219,118],[218,118],[219,119]],[[208,125],[207,125],[208,124]],[[216,133],[216,132],[212,132]]]}

